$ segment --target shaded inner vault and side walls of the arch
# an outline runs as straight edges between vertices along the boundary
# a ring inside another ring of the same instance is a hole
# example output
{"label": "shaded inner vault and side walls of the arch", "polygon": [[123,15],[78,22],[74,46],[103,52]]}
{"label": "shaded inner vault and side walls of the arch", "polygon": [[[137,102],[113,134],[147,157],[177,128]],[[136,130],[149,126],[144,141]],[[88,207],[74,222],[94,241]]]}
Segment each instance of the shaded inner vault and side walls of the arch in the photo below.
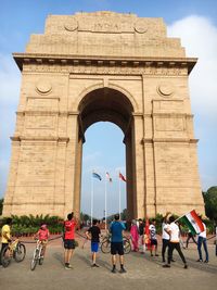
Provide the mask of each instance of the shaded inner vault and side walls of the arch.
{"label": "shaded inner vault and side walls of the arch", "polygon": [[[85,133],[93,124],[98,122],[111,122],[117,125],[123,134],[125,143],[125,159],[126,159],[126,200],[127,200],[127,218],[137,216],[136,188],[133,182],[135,161],[132,156],[133,150],[133,106],[130,100],[120,91],[111,88],[100,88],[88,92],[78,105],[79,130],[78,130],[78,152],[82,152],[82,143],[85,142]],[[102,136],[97,137],[99,139]],[[112,139],[111,139],[112,142]],[[78,160],[79,159],[79,160]],[[82,153],[77,154],[77,174],[81,176]],[[119,164],[117,164],[117,167]],[[81,201],[81,180],[77,185],[76,190],[79,197],[79,209]],[[78,199],[76,199],[78,200]],[[74,203],[76,203],[74,200]]]}

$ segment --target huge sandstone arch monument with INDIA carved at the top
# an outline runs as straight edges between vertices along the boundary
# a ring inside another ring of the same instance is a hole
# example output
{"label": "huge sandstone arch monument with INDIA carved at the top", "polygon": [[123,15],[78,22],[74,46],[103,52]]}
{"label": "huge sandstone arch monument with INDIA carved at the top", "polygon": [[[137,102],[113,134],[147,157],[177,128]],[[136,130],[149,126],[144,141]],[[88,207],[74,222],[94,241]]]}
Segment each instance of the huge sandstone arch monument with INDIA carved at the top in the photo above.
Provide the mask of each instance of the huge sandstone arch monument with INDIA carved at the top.
{"label": "huge sandstone arch monument with INDIA carved at the top", "polygon": [[196,59],[162,18],[49,15],[13,56],[22,85],[4,216],[79,215],[85,133],[103,121],[125,136],[129,217],[204,213],[188,85]]}

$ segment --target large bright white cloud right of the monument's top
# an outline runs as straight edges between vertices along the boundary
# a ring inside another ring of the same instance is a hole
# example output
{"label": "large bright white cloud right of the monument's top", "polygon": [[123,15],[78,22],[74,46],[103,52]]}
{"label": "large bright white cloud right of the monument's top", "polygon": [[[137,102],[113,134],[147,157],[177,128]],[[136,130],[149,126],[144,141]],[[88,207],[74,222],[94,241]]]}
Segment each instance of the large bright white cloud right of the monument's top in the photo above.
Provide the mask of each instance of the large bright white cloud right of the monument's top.
{"label": "large bright white cloud right of the monument's top", "polygon": [[187,56],[199,58],[190,75],[193,111],[217,121],[217,27],[192,15],[168,26],[168,36],[180,37]]}

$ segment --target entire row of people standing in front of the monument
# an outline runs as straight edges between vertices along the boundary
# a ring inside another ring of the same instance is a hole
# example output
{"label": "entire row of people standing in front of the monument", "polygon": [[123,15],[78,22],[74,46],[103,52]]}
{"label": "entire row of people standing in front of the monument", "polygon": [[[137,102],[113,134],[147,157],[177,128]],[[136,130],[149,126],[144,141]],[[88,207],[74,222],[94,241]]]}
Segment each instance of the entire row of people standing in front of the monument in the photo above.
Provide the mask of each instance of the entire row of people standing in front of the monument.
{"label": "entire row of people standing in front of the monument", "polygon": [[[186,257],[182,253],[180,247],[180,227],[175,219],[174,215],[169,213],[163,218],[162,223],[162,262],[163,267],[170,267],[170,263],[175,262],[173,259],[174,250],[178,252],[179,256],[183,262],[183,267],[188,268],[188,264]],[[140,251],[144,253],[146,251],[146,247],[150,247],[151,256],[158,256],[157,253],[157,237],[156,237],[156,220],[152,219],[151,224],[145,225],[144,222],[140,218],[137,223],[136,219],[132,220],[130,227],[130,236],[132,241],[132,250]],[[12,218],[8,218],[5,225],[1,230],[1,253],[3,249],[12,241],[11,238],[11,225]],[[208,263],[208,250],[206,244],[206,226],[203,223],[204,231],[199,235],[197,242],[194,237],[189,234],[187,239],[187,248],[190,238],[193,238],[193,241],[197,243],[199,251],[199,260],[197,262]],[[67,215],[67,220],[64,222],[63,226],[63,242],[64,242],[64,266],[65,269],[72,269],[71,259],[76,247],[75,243],[75,230],[78,227],[78,220],[74,216],[74,213],[69,213]],[[116,214],[114,216],[114,220],[111,223],[108,231],[111,235],[111,255],[112,255],[112,273],[116,273],[116,255],[119,256],[119,273],[126,273],[126,268],[124,267],[124,244],[123,244],[123,232],[126,230],[126,224],[119,219],[119,215]],[[149,235],[148,235],[149,232]],[[98,225],[98,220],[93,219],[92,226],[86,231],[86,238],[91,240],[91,253],[92,253],[92,267],[99,267],[97,264],[97,253],[99,251],[101,229]],[[43,244],[42,256],[46,254],[46,247],[48,243],[48,239],[50,237],[50,232],[48,227],[43,224],[35,235],[35,238],[39,240]],[[202,244],[205,250],[205,260],[202,257]],[[166,250],[167,261],[166,261]],[[0,255],[1,256],[1,255]],[[1,260],[0,260],[1,265]]]}

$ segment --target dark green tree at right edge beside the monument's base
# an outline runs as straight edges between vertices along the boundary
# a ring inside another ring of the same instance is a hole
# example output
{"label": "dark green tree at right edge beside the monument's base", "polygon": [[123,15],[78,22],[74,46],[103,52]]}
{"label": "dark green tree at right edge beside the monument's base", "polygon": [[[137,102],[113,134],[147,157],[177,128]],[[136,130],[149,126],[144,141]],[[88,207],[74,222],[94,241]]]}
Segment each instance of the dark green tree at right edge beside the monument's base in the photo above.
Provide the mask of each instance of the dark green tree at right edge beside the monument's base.
{"label": "dark green tree at right edge beside the monument's base", "polygon": [[203,192],[206,216],[217,222],[217,187],[210,187]]}

